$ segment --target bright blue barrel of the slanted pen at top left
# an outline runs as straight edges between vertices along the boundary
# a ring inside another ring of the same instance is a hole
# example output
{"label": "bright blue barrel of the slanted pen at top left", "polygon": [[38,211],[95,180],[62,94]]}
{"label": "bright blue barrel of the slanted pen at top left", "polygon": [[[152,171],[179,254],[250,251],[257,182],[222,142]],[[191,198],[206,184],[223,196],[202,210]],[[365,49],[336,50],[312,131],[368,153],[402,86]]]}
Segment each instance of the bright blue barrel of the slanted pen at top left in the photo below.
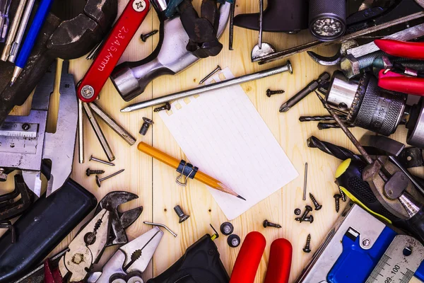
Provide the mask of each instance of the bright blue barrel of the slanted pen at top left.
{"label": "bright blue barrel of the slanted pen at top left", "polygon": [[52,8],[53,0],[42,0],[38,6],[37,13],[35,13],[33,23],[28,30],[28,35],[25,37],[22,47],[16,59],[16,67],[24,68],[28,57],[30,57],[31,51],[35,45],[35,40],[40,33],[42,25],[45,23],[47,15],[49,14],[50,8]]}

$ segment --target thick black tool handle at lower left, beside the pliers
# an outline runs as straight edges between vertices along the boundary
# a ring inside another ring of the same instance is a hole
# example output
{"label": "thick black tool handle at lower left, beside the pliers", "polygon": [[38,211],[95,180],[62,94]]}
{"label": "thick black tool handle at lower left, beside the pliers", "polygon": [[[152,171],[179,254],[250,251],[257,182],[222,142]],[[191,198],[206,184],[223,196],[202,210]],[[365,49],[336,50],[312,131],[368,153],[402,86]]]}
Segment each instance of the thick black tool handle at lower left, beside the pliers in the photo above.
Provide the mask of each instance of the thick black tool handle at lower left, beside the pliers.
{"label": "thick black tool handle at lower left, beside the pliers", "polygon": [[10,283],[39,264],[95,208],[97,200],[69,179],[60,190],[42,197],[0,238],[0,282]]}

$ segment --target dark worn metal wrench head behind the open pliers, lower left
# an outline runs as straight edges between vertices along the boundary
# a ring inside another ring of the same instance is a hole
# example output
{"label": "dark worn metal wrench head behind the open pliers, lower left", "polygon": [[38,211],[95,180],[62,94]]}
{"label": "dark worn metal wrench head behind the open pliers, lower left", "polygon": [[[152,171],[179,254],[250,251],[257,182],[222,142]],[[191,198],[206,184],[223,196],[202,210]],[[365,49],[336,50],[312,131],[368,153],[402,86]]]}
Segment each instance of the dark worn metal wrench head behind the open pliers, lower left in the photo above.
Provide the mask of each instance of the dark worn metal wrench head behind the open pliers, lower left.
{"label": "dark worn metal wrench head behind the open pliers, lower left", "polygon": [[139,196],[131,192],[110,192],[100,200],[95,214],[102,209],[110,212],[111,229],[106,246],[128,243],[125,230],[139,218],[143,207],[136,207],[127,212],[119,212],[118,207],[121,204],[138,199]]}

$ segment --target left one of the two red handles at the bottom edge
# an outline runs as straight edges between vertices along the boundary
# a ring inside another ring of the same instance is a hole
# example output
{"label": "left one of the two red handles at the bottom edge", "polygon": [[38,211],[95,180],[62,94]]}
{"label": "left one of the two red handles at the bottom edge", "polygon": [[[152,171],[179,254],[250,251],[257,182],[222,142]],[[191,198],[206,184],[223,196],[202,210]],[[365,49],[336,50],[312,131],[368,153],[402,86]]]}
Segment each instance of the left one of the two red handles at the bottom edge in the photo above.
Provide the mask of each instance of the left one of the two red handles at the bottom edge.
{"label": "left one of the two red handles at the bottom edge", "polygon": [[261,233],[254,231],[247,234],[235,260],[230,283],[254,282],[265,246],[266,240]]}

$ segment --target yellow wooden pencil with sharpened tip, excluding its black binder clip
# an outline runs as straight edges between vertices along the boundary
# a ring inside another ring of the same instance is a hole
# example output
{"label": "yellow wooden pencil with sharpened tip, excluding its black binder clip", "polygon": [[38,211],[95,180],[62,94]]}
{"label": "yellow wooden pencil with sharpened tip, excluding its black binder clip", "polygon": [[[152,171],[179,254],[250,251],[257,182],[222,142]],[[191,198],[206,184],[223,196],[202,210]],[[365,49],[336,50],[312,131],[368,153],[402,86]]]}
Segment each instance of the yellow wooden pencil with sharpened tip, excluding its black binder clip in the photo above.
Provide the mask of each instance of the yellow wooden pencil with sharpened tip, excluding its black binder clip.
{"label": "yellow wooden pencil with sharpened tip, excluding its black binder clip", "polygon": [[[158,161],[162,161],[163,163],[167,164],[168,166],[171,166],[172,168],[177,169],[179,166],[180,161],[178,159],[173,158],[172,156],[165,154],[165,152],[155,149],[153,146],[149,146],[144,142],[139,143],[139,146],[137,146],[137,148],[139,149],[139,151],[144,152],[145,154],[148,154],[155,159],[158,159]],[[221,183],[219,180],[216,180],[215,178],[212,178],[211,176],[206,175],[201,171],[197,171],[196,175],[194,175],[194,179],[201,181],[201,183],[204,183],[209,187],[213,187],[213,189],[220,190],[221,192],[226,192],[230,195],[238,197],[239,199],[245,200],[244,197],[238,195],[237,192],[234,192],[229,187]]]}

